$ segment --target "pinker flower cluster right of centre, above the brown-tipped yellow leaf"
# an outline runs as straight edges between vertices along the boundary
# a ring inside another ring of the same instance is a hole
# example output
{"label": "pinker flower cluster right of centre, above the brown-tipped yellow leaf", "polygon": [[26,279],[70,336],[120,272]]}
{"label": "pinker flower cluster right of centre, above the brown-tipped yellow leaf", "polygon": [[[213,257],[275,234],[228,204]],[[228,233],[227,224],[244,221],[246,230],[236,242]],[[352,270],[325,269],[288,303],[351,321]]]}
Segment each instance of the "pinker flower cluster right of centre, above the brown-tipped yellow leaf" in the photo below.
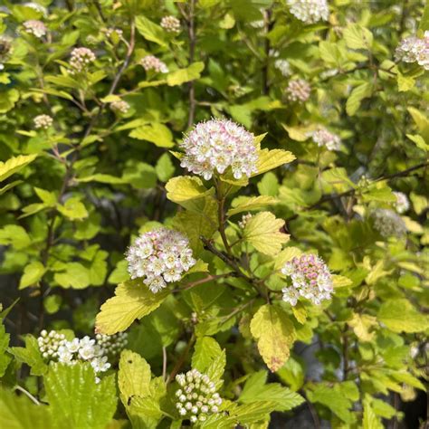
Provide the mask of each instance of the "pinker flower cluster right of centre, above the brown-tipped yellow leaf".
{"label": "pinker flower cluster right of centre, above the brown-tipped yellow leaf", "polygon": [[319,256],[302,254],[294,257],[281,269],[291,278],[291,286],[283,288],[283,300],[295,306],[300,299],[306,298],[319,305],[322,300],[330,300],[334,291],[329,268]]}

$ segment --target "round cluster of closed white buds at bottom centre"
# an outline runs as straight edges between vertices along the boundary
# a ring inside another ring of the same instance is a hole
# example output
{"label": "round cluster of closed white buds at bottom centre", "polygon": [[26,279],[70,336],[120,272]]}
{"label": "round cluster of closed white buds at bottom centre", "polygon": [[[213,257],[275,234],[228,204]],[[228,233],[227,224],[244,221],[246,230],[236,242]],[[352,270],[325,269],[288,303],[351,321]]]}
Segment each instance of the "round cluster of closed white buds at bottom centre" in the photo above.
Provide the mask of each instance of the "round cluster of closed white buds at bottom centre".
{"label": "round cluster of closed white buds at bottom centre", "polygon": [[205,422],[207,417],[219,412],[222,398],[216,392],[216,386],[205,374],[196,369],[178,374],[176,382],[181,387],[176,390],[176,407],[179,415],[188,417],[192,423]]}

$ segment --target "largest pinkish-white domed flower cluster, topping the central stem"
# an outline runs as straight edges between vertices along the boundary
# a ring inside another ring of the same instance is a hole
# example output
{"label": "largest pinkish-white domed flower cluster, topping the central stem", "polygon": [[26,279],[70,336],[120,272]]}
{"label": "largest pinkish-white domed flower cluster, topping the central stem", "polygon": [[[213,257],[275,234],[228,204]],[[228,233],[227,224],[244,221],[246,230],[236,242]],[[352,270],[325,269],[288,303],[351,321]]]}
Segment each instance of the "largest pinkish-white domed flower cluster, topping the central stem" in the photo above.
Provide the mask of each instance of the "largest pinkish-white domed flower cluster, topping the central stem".
{"label": "largest pinkish-white domed flower cluster, topping the central stem", "polygon": [[236,179],[258,171],[258,154],[253,133],[227,119],[200,122],[184,138],[181,166],[209,180],[215,171],[223,174],[231,167]]}

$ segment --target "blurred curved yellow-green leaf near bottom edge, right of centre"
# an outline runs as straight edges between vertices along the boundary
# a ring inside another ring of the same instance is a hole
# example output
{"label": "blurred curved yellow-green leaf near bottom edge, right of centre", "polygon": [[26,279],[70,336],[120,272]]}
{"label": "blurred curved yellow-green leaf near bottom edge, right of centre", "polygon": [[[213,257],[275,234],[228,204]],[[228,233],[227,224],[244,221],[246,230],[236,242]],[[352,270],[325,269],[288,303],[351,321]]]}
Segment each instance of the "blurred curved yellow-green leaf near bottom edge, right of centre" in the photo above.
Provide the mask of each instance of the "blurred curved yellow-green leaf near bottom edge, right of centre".
{"label": "blurred curved yellow-green leaf near bottom edge, right of centre", "polygon": [[338,386],[318,384],[312,390],[307,390],[307,397],[311,402],[325,405],[332,413],[345,423],[351,423],[353,415],[349,411],[352,402],[340,391]]}

